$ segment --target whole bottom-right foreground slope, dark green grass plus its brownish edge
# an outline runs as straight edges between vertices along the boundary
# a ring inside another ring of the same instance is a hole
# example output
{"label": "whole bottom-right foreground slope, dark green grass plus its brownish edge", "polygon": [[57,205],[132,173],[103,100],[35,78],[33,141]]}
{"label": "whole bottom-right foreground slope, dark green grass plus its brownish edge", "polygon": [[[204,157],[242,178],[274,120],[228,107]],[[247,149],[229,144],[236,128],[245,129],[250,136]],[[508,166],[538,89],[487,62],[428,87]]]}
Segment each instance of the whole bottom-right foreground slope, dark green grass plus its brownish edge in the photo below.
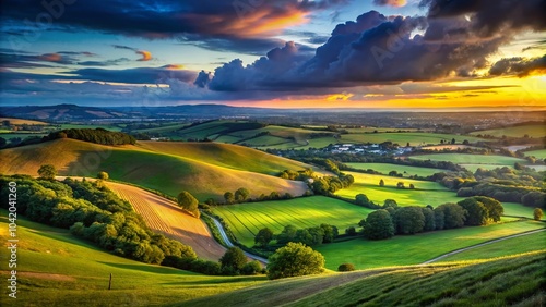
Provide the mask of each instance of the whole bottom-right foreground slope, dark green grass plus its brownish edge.
{"label": "whole bottom-right foreground slope, dark green grass plus its brownish edge", "polygon": [[288,279],[177,306],[542,306],[545,255]]}

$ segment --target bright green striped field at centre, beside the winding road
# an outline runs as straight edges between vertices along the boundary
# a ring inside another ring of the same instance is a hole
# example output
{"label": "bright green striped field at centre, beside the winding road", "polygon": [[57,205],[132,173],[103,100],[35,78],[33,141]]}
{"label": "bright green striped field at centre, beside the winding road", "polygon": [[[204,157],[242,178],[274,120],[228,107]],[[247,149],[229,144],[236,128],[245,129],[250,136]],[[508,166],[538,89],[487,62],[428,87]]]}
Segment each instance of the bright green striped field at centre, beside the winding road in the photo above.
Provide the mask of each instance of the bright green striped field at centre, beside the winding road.
{"label": "bright green striped field at centre, beside the winding road", "polygon": [[229,224],[235,236],[247,246],[254,244],[256,234],[263,228],[281,233],[284,226],[290,224],[311,228],[327,223],[337,226],[343,233],[346,228],[356,226],[371,211],[323,196],[214,208],[214,212]]}

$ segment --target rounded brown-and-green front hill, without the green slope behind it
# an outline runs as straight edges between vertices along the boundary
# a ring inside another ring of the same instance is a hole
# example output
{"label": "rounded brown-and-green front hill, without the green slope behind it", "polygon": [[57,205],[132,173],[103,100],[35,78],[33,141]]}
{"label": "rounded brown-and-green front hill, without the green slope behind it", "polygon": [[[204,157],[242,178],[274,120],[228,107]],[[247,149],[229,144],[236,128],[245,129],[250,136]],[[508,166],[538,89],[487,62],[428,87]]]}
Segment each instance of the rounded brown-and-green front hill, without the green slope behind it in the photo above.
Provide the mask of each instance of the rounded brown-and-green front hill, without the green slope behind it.
{"label": "rounded brown-and-green front hill, without the green slope behind it", "polygon": [[[265,155],[265,154],[263,154]],[[248,156],[249,164],[260,163]],[[282,160],[284,163],[285,160]],[[227,169],[174,155],[147,151],[136,146],[107,147],[73,139],[57,139],[37,145],[0,150],[0,173],[36,175],[43,164],[54,164],[60,175],[96,176],[106,171],[111,179],[139,184],[176,196],[186,189],[200,200],[209,197],[222,199],[226,191],[239,187],[250,191],[252,197],[273,191],[301,195],[307,186],[302,182],[248,171]],[[270,164],[273,168],[274,163]],[[278,167],[284,170],[286,164]]]}

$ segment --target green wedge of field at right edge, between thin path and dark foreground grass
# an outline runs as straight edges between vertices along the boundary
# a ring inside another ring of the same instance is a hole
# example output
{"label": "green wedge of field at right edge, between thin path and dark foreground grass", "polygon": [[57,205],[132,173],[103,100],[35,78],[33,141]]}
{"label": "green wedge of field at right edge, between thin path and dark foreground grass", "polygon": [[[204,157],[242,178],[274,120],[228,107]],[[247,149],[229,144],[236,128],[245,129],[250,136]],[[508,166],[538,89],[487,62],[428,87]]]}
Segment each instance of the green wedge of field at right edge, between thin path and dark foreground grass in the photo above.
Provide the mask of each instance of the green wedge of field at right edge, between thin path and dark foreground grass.
{"label": "green wedge of field at right edge, between thin path and dark foreground grass", "polygon": [[546,232],[539,232],[518,237],[499,241],[496,243],[468,249],[441,259],[444,261],[461,261],[474,259],[490,259],[509,255],[529,253],[534,250],[545,250]]}

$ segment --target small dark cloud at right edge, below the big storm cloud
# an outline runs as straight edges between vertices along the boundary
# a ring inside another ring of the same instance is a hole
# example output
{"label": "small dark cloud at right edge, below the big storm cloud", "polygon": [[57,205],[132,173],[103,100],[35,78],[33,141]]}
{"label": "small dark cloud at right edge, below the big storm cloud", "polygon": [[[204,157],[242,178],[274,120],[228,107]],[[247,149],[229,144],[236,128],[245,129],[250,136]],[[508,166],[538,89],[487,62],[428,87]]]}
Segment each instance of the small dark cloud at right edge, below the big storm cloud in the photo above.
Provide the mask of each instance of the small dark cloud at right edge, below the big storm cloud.
{"label": "small dark cloud at right edge, below the big storm cloud", "polygon": [[546,72],[546,56],[534,59],[509,58],[497,61],[489,70],[490,75],[518,75],[520,77],[533,72]]}

